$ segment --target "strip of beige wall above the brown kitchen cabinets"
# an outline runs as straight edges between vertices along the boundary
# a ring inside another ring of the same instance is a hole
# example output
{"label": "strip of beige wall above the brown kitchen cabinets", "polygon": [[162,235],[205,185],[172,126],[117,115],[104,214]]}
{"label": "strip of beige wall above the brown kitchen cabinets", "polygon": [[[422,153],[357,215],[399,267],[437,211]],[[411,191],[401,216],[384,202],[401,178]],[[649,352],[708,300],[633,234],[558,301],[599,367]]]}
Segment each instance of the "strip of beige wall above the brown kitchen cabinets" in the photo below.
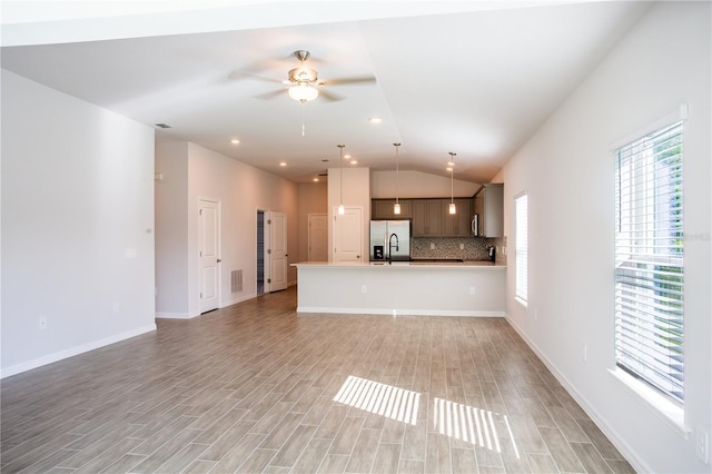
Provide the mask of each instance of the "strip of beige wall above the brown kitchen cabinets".
{"label": "strip of beige wall above the brown kitchen cabinets", "polygon": [[[455,175],[457,176],[457,175]],[[478,182],[453,179],[455,197],[471,197],[482,185]],[[398,171],[398,198],[441,198],[449,197],[449,178],[421,171]],[[393,198],[396,196],[395,171],[372,171],[370,197]]]}

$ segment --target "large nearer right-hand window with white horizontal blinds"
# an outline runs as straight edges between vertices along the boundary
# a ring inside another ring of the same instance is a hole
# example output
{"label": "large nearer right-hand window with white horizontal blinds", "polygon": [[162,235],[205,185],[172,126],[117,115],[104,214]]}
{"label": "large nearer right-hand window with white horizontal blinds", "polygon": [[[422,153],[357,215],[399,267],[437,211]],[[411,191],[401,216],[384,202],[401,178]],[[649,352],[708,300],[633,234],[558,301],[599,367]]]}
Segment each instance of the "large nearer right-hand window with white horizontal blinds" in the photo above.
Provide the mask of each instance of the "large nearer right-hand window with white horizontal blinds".
{"label": "large nearer right-hand window with white horizontal blinds", "polygon": [[615,362],[678,402],[683,384],[682,122],[615,151]]}

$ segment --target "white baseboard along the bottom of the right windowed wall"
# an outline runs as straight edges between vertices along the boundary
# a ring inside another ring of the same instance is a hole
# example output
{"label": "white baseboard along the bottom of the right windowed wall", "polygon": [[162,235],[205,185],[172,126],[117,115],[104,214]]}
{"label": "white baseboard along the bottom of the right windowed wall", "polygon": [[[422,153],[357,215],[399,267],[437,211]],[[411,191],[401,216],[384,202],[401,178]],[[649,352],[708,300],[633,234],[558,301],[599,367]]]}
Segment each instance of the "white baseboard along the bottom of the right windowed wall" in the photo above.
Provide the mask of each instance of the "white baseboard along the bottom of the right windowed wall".
{"label": "white baseboard along the bottom of the right windowed wall", "polygon": [[599,428],[603,432],[603,434],[606,435],[606,437],[611,441],[611,443],[613,443],[616,450],[621,452],[623,457],[625,457],[625,460],[629,463],[631,463],[635,472],[639,472],[639,473],[653,472],[653,470],[647,465],[647,463],[645,463],[645,461],[642,460],[637,455],[637,453],[635,453],[635,451],[631,447],[631,445],[627,444],[625,440],[623,440],[613,427],[611,427],[611,425],[606,422],[605,417],[603,417],[587,402],[586,397],[584,397],[581,393],[576,391],[576,388],[568,382],[566,376],[561,372],[558,372],[556,366],[548,358],[546,358],[546,356],[544,356],[542,350],[540,350],[536,344],[534,344],[534,342],[527,337],[526,333],[522,330],[522,328],[514,322],[514,319],[512,319],[507,314],[505,314],[505,319],[507,320],[510,326],[512,326],[514,330],[516,330],[516,333],[526,343],[526,345],[534,352],[534,354],[536,354],[536,357],[538,357],[538,359],[542,361],[542,363],[546,366],[546,368],[548,368],[552,375],[556,377],[558,383],[562,384],[564,388],[566,388],[566,392],[568,392],[568,394],[576,401],[576,403],[581,405],[581,408],[584,412],[586,412],[586,415],[589,415],[589,417],[596,424],[596,426],[599,426]]}

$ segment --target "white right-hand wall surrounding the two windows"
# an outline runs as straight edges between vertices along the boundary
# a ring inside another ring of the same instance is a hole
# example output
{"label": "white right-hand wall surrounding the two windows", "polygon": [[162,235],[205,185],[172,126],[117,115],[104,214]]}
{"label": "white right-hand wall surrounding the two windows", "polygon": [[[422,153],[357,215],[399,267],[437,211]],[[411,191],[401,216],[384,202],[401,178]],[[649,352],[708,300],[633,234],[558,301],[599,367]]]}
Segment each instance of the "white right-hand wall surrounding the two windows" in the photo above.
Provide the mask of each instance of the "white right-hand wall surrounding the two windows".
{"label": "white right-hand wall surrounding the two windows", "polygon": [[[505,233],[511,239],[513,199],[522,191],[530,196],[530,303],[524,308],[513,299],[512,255],[510,320],[640,472],[710,472],[695,457],[693,444],[698,429],[712,429],[710,7],[654,4],[498,176],[505,182]],[[690,107],[683,152],[684,424],[691,434],[611,372],[611,150],[681,102]]]}

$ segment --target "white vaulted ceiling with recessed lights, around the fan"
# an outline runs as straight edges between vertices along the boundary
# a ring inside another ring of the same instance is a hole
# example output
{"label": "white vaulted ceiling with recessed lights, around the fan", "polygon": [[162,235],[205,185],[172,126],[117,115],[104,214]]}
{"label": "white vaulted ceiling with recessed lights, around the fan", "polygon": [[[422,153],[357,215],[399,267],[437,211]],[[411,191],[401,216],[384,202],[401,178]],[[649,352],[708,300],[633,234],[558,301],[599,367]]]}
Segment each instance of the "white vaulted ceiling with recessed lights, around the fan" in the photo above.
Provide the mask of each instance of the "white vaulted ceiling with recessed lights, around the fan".
{"label": "white vaulted ceiling with recessed lights, around the fan", "polygon": [[[337,144],[357,166],[394,169],[394,142],[403,144],[400,169],[449,176],[454,151],[455,178],[486,182],[649,8],[226,0],[136,2],[154,9],[118,16],[57,8],[59,20],[36,8],[46,16],[38,22],[32,3],[3,2],[4,69],[148,126],[170,125],[157,129],[159,141],[189,140],[299,182],[338,166]],[[327,82],[376,82],[327,83],[342,100],[305,106],[286,91],[260,98],[286,88],[279,81],[298,65],[297,49],[312,52],[309,66]]]}

